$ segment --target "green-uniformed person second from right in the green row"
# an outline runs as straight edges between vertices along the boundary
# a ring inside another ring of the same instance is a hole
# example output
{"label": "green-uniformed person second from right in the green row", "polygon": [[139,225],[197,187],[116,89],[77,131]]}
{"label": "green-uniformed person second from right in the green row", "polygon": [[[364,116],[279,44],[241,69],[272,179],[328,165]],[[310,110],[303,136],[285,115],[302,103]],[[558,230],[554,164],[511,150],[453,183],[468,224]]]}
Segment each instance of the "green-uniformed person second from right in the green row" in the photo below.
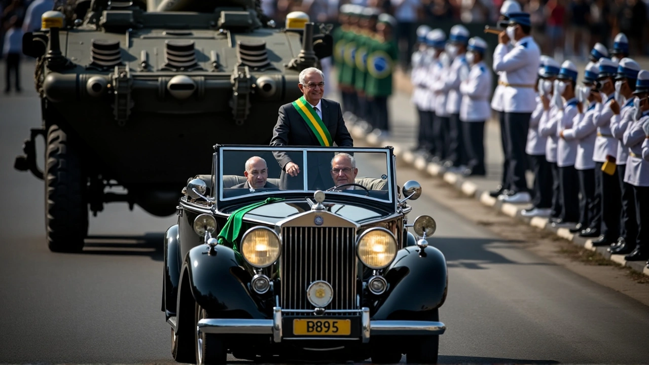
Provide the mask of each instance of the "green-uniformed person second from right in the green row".
{"label": "green-uniformed person second from right in the green row", "polygon": [[356,116],[372,124],[369,114],[370,106],[365,97],[365,79],[367,77],[367,55],[369,47],[376,36],[376,21],[380,11],[376,8],[364,8],[359,21],[360,32],[356,36],[356,68],[354,69],[354,90],[358,95]]}

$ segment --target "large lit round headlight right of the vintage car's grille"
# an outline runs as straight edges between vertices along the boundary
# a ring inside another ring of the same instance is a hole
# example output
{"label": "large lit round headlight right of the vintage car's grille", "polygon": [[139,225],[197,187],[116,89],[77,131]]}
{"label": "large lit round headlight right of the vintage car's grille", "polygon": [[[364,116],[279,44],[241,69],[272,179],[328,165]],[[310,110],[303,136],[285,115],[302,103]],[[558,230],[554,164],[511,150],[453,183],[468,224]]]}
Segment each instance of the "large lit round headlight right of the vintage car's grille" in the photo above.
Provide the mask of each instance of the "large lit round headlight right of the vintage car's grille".
{"label": "large lit round headlight right of the vintage car's grille", "polygon": [[397,256],[397,240],[385,228],[372,228],[358,239],[358,258],[371,269],[388,266]]}

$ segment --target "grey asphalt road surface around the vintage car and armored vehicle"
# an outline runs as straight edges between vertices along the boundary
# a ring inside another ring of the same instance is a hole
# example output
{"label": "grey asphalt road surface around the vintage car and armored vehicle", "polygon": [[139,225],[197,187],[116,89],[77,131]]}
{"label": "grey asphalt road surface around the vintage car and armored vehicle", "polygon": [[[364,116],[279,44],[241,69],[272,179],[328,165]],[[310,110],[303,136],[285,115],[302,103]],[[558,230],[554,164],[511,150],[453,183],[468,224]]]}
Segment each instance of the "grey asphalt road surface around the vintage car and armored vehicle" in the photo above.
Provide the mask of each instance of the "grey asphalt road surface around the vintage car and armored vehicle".
{"label": "grey asphalt road surface around the vintage car and armored vehicle", "polygon": [[[175,216],[106,205],[91,217],[84,253],[49,252],[43,182],[13,169],[40,125],[31,72],[23,65],[23,94],[0,95],[0,363],[173,362],[160,295],[162,234]],[[421,179],[398,180],[411,178]],[[430,242],[448,260],[439,362],[649,363],[649,308],[500,240],[427,193],[411,203],[411,218],[437,220]]]}

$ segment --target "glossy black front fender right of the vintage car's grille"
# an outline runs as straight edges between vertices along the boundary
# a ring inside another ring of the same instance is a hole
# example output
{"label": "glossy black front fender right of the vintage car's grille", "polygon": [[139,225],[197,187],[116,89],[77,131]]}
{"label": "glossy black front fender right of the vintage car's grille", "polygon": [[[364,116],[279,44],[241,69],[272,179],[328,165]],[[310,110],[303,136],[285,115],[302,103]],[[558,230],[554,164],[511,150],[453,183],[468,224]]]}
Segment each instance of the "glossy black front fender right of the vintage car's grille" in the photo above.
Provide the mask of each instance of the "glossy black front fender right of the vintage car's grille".
{"label": "glossy black front fender right of the vintage car's grille", "polygon": [[446,259],[435,247],[400,249],[386,270],[388,290],[374,307],[372,318],[415,319],[431,313],[446,300],[447,274]]}

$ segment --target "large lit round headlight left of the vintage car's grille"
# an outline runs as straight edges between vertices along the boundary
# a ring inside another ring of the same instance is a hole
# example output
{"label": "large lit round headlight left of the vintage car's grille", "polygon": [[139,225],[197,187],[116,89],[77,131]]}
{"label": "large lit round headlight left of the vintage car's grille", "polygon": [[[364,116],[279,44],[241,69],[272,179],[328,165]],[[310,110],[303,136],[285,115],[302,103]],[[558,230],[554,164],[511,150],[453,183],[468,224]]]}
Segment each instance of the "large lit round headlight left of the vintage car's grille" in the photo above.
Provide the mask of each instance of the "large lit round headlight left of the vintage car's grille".
{"label": "large lit round headlight left of the vintage car's grille", "polygon": [[280,257],[280,238],[268,227],[252,227],[241,238],[243,258],[256,268],[271,266]]}

